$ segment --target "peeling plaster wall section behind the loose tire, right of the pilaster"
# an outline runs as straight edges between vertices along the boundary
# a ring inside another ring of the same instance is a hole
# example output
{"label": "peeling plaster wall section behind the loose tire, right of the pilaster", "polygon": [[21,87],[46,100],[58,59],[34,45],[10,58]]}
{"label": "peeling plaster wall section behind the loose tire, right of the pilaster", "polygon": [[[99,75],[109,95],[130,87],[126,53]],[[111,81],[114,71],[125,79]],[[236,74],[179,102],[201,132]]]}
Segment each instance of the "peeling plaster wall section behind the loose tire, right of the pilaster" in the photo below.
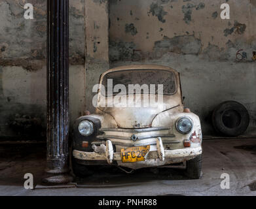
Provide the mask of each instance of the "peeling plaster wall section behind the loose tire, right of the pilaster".
{"label": "peeling plaster wall section behind the loose tire, right of the pilaster", "polygon": [[[222,3],[230,5],[230,20],[220,18]],[[185,105],[200,116],[204,135],[215,134],[210,113],[227,100],[246,106],[246,135],[255,134],[255,0],[111,0],[109,8],[111,67],[174,67]],[[240,49],[243,61],[236,60]]]}

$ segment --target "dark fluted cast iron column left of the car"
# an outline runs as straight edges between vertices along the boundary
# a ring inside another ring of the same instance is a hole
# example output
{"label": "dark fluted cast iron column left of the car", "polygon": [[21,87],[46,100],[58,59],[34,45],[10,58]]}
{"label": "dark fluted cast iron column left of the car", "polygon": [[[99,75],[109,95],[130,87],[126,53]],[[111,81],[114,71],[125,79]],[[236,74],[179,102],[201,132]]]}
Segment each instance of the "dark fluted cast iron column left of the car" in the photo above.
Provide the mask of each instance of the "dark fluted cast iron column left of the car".
{"label": "dark fluted cast iron column left of the car", "polygon": [[46,184],[64,184],[69,172],[69,0],[47,0]]}

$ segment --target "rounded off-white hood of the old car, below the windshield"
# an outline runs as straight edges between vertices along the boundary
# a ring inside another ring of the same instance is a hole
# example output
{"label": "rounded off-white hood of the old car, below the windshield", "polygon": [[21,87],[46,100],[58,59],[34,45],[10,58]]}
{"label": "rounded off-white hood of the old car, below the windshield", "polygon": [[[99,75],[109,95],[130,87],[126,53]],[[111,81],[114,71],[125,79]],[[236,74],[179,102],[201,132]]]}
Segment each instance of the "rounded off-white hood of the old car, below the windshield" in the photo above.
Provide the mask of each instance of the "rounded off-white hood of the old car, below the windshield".
{"label": "rounded off-white hood of the old car, below the windshield", "polygon": [[[160,114],[161,112],[164,112],[166,110],[170,110],[173,112],[179,112],[183,110],[183,106],[181,104],[181,99],[175,95],[163,95],[163,102],[158,103],[156,106],[143,106],[140,105],[141,101],[143,100],[143,95],[140,97],[134,97],[132,100],[134,103],[134,107],[128,105],[129,103],[124,103],[125,99],[128,101],[128,95],[122,95],[119,96],[120,101],[115,103],[113,102],[113,107],[107,106],[104,107],[102,104],[102,101],[100,101],[100,105],[98,106],[98,109],[101,111],[110,114],[113,116],[115,121],[117,122],[117,125],[119,128],[145,128],[145,127],[151,127],[151,123],[154,120],[154,118]],[[155,97],[155,99],[157,96]],[[109,101],[109,99],[106,99],[106,101]],[[156,99],[157,101],[157,99]],[[115,104],[119,105],[125,105],[123,107],[117,107]],[[166,119],[162,119],[166,120]]]}

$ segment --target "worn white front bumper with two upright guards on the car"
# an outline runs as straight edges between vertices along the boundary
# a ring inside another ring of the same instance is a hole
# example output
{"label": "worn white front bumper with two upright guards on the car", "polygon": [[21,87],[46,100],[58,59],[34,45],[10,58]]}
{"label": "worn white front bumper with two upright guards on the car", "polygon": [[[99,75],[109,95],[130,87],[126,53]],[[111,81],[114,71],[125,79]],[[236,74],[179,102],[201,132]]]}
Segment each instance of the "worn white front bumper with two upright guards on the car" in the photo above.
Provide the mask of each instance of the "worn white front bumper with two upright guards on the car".
{"label": "worn white front bumper with two upright guards on the car", "polygon": [[[202,147],[194,148],[183,148],[178,150],[164,150],[162,145],[162,139],[158,137],[156,139],[156,146],[151,146],[151,150],[145,156],[145,161],[147,159],[159,159],[164,161],[165,159],[175,159],[175,158],[185,158],[192,159],[197,155],[202,153]],[[106,141],[106,150],[105,153],[96,153],[96,152],[82,152],[79,150],[73,150],[73,157],[76,159],[82,160],[106,160],[107,163],[111,164],[114,161],[121,161],[120,152],[113,152],[113,146],[111,140]]]}

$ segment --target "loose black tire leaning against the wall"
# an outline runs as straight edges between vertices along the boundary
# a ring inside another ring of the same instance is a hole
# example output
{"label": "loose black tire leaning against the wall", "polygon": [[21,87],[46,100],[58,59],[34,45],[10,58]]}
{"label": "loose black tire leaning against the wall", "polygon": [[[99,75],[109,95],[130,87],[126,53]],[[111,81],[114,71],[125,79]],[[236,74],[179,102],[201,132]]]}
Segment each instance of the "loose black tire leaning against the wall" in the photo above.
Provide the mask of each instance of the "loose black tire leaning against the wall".
{"label": "loose black tire leaning against the wall", "polygon": [[246,107],[236,101],[219,104],[212,114],[214,129],[227,137],[242,135],[249,125],[249,113]]}

